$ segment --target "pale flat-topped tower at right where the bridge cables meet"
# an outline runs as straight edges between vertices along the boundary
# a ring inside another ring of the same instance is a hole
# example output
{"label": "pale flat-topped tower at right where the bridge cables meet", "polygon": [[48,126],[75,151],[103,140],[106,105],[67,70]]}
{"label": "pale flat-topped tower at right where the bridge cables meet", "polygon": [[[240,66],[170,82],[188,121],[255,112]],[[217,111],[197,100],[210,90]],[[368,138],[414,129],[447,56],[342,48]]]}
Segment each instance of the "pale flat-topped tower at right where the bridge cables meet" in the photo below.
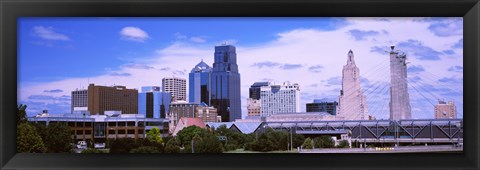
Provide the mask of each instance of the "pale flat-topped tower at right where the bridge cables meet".
{"label": "pale flat-topped tower at right where the bridge cables meet", "polygon": [[410,97],[407,86],[407,55],[390,47],[390,120],[411,119]]}

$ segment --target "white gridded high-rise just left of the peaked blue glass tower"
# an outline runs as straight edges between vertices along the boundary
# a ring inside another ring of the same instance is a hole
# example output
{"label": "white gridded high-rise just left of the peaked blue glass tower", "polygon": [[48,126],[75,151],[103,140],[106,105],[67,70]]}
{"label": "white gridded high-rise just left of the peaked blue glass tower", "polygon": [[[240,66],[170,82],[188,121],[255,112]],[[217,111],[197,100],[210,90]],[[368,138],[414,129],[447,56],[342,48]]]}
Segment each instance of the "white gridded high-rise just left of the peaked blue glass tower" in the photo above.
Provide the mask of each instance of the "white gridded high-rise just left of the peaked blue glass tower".
{"label": "white gridded high-rise just left of the peaked blue glass tower", "polygon": [[177,77],[162,79],[162,91],[172,94],[172,101],[187,101],[187,80]]}

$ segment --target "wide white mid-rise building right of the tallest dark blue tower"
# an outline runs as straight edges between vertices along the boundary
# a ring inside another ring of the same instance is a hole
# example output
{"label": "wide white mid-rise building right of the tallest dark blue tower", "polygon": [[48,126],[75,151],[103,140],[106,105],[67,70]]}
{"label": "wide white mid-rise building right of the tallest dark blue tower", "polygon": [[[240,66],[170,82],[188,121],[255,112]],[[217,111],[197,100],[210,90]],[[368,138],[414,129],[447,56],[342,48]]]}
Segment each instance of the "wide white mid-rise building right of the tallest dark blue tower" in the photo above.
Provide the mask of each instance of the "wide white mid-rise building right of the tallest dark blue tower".
{"label": "wide white mid-rise building right of the tallest dark blue tower", "polygon": [[260,87],[260,116],[300,112],[300,86],[284,82]]}

